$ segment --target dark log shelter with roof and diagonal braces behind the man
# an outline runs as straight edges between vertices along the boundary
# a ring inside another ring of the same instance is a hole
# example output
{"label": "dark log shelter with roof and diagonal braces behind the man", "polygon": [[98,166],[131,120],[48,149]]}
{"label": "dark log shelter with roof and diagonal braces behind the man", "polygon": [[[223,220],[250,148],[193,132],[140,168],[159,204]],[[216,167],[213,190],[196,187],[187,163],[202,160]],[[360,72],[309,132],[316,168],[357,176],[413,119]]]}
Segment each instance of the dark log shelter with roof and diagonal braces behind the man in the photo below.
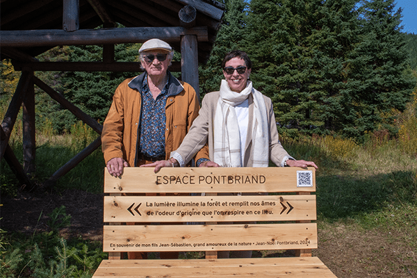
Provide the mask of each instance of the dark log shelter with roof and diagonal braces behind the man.
{"label": "dark log shelter with roof and diagonal braces behind the man", "polygon": [[[199,94],[198,63],[204,63],[215,41],[224,5],[214,0],[2,0],[1,59],[10,58],[22,71],[13,99],[1,123],[0,158],[5,158],[21,183],[29,185],[35,173],[34,85],[74,113],[97,133],[102,126],[36,78],[36,71],[138,72],[138,63],[115,61],[114,45],[165,40],[181,52],[173,72],[193,85]],[[120,23],[125,28],[115,28]],[[102,26],[101,28],[99,28]],[[59,45],[103,45],[101,62],[39,62],[39,54]],[[24,165],[8,146],[20,107],[23,107]],[[68,161],[49,179],[54,184],[101,145],[99,138]]]}

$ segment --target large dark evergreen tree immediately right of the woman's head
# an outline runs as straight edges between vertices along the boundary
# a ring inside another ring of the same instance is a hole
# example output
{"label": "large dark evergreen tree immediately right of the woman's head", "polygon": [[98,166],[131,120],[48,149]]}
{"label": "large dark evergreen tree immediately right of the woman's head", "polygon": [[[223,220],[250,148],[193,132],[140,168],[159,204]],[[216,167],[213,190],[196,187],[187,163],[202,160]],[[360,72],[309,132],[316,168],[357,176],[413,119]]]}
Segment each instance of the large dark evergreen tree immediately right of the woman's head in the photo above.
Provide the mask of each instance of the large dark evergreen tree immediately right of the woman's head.
{"label": "large dark evergreen tree immediately right of the woman's head", "polygon": [[248,52],[255,86],[281,131],[324,133],[341,107],[343,61],[356,36],[354,0],[252,0]]}

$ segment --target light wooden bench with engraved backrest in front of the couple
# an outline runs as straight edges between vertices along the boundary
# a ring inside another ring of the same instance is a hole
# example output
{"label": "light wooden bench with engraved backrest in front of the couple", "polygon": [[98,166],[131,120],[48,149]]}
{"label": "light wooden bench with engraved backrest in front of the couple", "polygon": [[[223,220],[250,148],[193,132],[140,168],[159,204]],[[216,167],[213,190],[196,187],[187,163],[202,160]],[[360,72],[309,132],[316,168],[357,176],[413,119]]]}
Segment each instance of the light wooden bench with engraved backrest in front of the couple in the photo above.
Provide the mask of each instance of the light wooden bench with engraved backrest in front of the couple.
{"label": "light wooden bench with engraved backrest in front of the couple", "polygon": [[[336,277],[311,256],[318,245],[317,224],[311,222],[316,220],[316,195],[310,194],[315,191],[314,168],[166,167],[155,174],[153,168],[127,167],[121,178],[106,171],[103,250],[109,253],[93,277]],[[223,250],[296,252],[293,257],[217,259]],[[120,259],[121,252],[132,251],[203,251],[206,256]]]}

